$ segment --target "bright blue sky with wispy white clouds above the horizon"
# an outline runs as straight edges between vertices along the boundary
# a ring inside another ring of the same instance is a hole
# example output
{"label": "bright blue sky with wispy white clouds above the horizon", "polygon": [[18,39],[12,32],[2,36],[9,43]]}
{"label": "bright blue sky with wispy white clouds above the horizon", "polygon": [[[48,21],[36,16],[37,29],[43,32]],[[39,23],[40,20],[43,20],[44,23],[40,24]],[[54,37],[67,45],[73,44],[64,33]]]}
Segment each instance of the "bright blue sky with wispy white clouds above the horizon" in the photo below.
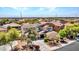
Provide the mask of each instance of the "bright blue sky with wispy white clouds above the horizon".
{"label": "bright blue sky with wispy white clouds above the horizon", "polygon": [[0,17],[79,16],[79,7],[0,7]]}

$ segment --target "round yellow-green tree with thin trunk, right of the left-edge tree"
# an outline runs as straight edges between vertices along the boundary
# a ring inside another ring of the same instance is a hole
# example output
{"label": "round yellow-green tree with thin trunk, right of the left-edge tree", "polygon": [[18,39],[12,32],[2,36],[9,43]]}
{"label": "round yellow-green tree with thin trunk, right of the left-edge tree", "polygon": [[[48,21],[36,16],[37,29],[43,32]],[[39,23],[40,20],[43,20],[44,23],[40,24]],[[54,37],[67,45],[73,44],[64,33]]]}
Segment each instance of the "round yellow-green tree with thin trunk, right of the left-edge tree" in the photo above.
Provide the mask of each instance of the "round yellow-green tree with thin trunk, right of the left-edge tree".
{"label": "round yellow-green tree with thin trunk, right of the left-edge tree", "polygon": [[20,31],[15,29],[15,28],[11,28],[8,33],[7,33],[7,36],[9,38],[9,44],[11,46],[11,50],[13,49],[12,47],[12,41],[16,40],[17,38],[20,37]]}

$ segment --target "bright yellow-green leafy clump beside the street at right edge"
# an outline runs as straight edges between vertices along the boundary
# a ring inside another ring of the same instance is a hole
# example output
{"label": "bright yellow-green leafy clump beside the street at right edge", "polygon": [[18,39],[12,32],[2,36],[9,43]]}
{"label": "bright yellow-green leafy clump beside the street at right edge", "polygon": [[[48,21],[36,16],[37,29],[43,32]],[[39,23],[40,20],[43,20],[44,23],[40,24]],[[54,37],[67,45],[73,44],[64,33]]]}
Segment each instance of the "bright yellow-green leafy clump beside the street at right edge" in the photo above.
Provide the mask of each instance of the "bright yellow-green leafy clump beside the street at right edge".
{"label": "bright yellow-green leafy clump beside the street at right edge", "polygon": [[75,37],[79,32],[78,24],[70,24],[69,26],[65,26],[64,29],[59,31],[60,38],[64,38],[69,36]]}

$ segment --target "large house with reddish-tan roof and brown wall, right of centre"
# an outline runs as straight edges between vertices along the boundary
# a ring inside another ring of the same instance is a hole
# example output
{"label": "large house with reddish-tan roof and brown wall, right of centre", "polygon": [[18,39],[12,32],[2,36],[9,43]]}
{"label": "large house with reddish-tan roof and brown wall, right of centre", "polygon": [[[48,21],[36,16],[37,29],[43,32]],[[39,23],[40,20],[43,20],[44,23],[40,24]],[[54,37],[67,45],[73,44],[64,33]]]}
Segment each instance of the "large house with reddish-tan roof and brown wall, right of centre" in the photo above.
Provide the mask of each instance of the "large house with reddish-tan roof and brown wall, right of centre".
{"label": "large house with reddish-tan roof and brown wall, right of centre", "polygon": [[52,22],[41,22],[40,26],[45,27],[49,25],[49,27],[52,27],[52,30],[59,31],[64,27],[64,24],[62,24],[60,21],[52,21]]}

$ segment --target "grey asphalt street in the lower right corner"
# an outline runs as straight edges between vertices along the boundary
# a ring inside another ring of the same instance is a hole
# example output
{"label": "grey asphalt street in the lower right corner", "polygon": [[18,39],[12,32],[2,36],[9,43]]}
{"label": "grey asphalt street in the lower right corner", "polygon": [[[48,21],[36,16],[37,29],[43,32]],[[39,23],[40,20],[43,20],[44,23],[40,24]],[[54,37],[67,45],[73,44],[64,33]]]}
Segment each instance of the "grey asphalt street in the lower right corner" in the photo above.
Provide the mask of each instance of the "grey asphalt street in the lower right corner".
{"label": "grey asphalt street in the lower right corner", "polygon": [[68,46],[57,49],[56,51],[79,51],[79,42],[74,42]]}

